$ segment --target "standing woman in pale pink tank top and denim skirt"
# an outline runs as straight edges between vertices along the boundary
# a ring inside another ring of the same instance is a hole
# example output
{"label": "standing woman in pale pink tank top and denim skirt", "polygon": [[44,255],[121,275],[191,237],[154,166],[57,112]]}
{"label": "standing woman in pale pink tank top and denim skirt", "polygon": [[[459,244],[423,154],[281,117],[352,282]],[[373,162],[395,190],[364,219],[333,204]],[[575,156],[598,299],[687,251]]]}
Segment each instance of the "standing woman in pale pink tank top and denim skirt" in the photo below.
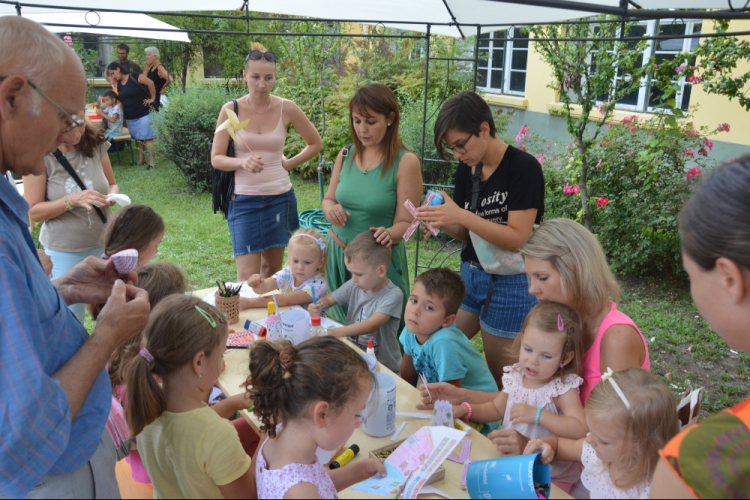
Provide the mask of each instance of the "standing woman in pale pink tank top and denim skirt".
{"label": "standing woman in pale pink tank top and denim skirt", "polygon": [[[299,228],[297,198],[289,172],[317,155],[323,141],[315,126],[295,103],[271,92],[276,84],[276,54],[253,43],[245,62],[243,78],[248,94],[224,105],[219,125],[228,112],[238,110],[230,123],[249,124],[234,128],[234,157],[227,156],[229,132],[214,135],[211,164],[217,170],[234,172],[234,193],[227,221],[232,236],[237,280],[254,274],[269,278],[281,270],[284,248]],[[287,130],[292,126],[305,141],[296,156],[284,156]]]}

